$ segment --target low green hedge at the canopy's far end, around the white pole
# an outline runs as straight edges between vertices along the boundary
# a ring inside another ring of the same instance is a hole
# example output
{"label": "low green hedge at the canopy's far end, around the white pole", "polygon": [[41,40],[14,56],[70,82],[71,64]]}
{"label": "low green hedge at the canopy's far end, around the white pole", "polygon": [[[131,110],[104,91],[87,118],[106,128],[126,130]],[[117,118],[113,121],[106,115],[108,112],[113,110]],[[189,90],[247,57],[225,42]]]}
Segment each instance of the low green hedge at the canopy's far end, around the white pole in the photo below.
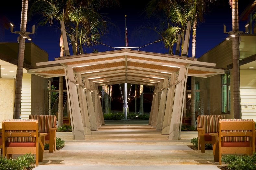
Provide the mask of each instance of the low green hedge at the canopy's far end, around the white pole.
{"label": "low green hedge at the canopy's far end, around the white pole", "polygon": [[[104,120],[122,120],[124,119],[123,113],[110,113],[110,114],[103,114]],[[138,120],[149,120],[149,115],[139,115],[135,113],[128,113],[127,119],[138,119]]]}

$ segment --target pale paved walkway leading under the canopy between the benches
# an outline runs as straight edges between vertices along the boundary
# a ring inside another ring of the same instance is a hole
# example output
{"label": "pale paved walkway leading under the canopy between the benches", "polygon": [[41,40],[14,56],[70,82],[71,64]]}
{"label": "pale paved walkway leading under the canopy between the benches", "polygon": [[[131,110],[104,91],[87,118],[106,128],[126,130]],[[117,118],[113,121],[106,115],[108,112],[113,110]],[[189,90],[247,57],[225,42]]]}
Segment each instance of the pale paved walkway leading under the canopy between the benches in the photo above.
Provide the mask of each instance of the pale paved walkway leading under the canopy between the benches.
{"label": "pale paved walkway leading under the canopy between the benches", "polygon": [[219,170],[212,150],[201,153],[187,146],[197,132],[182,132],[181,140],[170,141],[145,122],[106,122],[85,141],[73,141],[69,132],[57,137],[65,140],[64,148],[45,150],[34,170]]}

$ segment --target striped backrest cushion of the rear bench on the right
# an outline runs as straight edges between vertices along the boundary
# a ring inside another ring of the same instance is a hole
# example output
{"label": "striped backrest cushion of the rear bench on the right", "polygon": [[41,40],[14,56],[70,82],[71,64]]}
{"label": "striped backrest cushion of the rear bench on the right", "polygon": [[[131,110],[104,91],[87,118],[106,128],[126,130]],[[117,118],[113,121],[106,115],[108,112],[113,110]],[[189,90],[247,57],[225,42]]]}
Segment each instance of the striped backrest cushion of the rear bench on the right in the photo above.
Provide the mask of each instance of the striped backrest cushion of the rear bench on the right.
{"label": "striped backrest cushion of the rear bench on the right", "polygon": [[204,128],[204,133],[217,133],[220,119],[225,119],[225,116],[224,115],[199,115],[197,117],[197,127]]}

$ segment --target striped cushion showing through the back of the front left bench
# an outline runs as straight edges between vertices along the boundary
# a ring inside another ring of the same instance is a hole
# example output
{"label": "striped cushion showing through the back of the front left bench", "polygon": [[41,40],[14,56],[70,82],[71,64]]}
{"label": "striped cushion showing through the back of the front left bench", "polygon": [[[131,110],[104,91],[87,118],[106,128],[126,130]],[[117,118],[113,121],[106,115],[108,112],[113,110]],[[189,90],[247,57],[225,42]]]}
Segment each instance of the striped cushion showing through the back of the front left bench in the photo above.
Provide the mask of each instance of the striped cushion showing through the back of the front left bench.
{"label": "striped cushion showing through the back of the front left bench", "polygon": [[[20,121],[20,122],[26,122],[26,121],[38,121],[35,119],[7,119],[3,121]],[[6,130],[6,132],[36,132],[35,130]],[[36,142],[35,137],[8,137],[7,142]]]}

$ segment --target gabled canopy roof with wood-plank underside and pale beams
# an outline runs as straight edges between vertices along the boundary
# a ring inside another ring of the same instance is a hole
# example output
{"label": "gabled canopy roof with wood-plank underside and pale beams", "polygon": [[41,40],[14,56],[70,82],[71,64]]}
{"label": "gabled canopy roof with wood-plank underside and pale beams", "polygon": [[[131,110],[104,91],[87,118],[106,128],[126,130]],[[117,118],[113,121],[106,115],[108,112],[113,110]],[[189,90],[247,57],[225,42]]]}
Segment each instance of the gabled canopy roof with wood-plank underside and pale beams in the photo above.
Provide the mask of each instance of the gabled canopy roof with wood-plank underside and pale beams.
{"label": "gabled canopy roof with wood-plank underside and pale beams", "polygon": [[65,76],[64,68],[72,67],[94,85],[120,83],[155,86],[165,78],[188,68],[188,76],[209,77],[224,74],[214,63],[197,61],[192,57],[122,49],[115,51],[71,55],[55,58],[55,61],[37,63],[28,73],[45,78]]}

